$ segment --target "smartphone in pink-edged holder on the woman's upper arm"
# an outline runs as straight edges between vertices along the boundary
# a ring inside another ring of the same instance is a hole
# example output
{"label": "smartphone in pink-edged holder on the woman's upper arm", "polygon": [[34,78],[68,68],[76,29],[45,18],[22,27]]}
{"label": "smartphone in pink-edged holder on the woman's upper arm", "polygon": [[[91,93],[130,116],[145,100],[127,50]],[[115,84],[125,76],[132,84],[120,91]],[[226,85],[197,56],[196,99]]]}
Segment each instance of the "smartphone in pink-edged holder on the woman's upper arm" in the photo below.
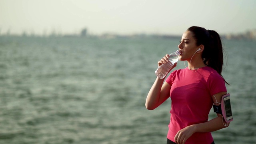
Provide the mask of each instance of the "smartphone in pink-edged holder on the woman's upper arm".
{"label": "smartphone in pink-edged holder on the woman's upper arm", "polygon": [[230,94],[225,94],[224,96],[222,96],[222,115],[224,116],[224,120],[227,123],[233,120]]}

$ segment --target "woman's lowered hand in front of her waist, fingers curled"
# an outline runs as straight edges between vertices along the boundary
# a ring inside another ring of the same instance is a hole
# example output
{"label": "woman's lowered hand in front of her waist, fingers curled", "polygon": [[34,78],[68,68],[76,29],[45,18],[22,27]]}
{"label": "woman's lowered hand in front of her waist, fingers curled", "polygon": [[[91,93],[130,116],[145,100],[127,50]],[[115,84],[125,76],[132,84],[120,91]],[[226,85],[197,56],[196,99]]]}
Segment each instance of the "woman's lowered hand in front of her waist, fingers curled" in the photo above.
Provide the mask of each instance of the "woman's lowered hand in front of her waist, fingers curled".
{"label": "woman's lowered hand in front of her waist, fingers curled", "polygon": [[177,132],[174,140],[177,144],[185,144],[186,140],[188,140],[188,138],[192,136],[192,134],[194,134],[195,132],[196,129],[193,125],[187,126],[186,128],[183,128],[182,130],[179,130]]}

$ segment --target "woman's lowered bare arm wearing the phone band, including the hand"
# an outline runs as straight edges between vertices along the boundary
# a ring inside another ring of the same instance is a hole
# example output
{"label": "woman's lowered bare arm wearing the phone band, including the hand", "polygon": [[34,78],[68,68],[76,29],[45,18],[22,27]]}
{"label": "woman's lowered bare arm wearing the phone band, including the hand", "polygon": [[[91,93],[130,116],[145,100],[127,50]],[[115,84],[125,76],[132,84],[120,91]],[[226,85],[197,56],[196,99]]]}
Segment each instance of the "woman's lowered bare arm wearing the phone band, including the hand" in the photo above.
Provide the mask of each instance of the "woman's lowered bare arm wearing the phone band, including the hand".
{"label": "woman's lowered bare arm wearing the phone band, including the hand", "polygon": [[[227,94],[227,92],[220,92],[218,94],[214,94],[216,99],[214,98],[214,96],[212,96],[212,100],[214,102],[216,102],[217,100],[217,102],[220,103],[221,98],[224,94]],[[224,126],[224,124],[227,124],[227,123],[225,122],[225,120],[223,120],[222,115],[217,114],[216,118],[208,122],[193,124],[191,126],[187,126],[186,128],[183,128],[182,130],[178,131],[174,139],[177,144],[184,144],[186,140],[190,136],[192,136],[192,134],[194,134],[195,132],[213,132],[216,130],[220,130],[222,128],[226,128],[229,125],[228,124],[227,126]]]}

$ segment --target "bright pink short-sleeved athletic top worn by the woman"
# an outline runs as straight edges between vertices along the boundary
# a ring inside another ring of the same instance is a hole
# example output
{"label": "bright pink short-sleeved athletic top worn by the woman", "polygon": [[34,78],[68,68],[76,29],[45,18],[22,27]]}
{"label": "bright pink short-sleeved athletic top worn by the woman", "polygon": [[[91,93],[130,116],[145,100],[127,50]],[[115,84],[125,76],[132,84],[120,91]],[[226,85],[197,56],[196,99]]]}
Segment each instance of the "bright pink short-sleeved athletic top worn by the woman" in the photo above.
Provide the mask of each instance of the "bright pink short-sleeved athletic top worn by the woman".
{"label": "bright pink short-sleeved athletic top worn by the woman", "polygon": [[[226,92],[224,79],[208,66],[197,70],[188,68],[175,70],[168,76],[172,108],[167,138],[175,142],[177,132],[186,126],[208,121],[212,108],[212,95]],[[211,144],[210,132],[194,133],[186,144]]]}

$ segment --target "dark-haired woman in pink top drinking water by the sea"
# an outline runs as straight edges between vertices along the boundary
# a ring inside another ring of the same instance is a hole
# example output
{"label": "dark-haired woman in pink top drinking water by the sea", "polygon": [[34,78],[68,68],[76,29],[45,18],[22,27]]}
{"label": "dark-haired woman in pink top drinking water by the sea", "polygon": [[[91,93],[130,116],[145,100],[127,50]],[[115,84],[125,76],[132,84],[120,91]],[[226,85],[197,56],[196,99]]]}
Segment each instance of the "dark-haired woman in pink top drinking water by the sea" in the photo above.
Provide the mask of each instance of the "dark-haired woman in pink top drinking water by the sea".
{"label": "dark-haired woman in pink top drinking water by the sea", "polygon": [[[213,30],[192,26],[182,35],[178,48],[179,59],[187,61],[188,67],[174,70],[165,82],[156,78],[146,98],[146,108],[153,110],[171,98],[167,144],[214,144],[210,132],[228,126],[221,114],[208,121],[212,105],[220,103],[227,94],[221,75],[220,36]],[[168,62],[168,58],[166,54],[158,66]],[[175,66],[176,63],[171,69]]]}

